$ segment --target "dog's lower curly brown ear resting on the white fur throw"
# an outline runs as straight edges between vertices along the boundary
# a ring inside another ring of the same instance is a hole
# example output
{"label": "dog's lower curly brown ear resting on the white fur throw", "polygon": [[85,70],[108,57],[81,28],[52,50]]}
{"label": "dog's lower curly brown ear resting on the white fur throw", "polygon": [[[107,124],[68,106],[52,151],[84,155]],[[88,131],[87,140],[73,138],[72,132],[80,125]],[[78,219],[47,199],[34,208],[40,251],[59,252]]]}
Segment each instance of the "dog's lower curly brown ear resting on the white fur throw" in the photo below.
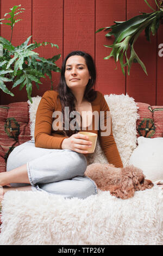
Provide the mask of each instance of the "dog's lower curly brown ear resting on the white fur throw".
{"label": "dog's lower curly brown ear resting on the white fur throw", "polygon": [[109,191],[112,196],[121,199],[127,199],[134,196],[135,189],[134,186],[122,188],[122,186],[119,185],[112,185],[110,186]]}

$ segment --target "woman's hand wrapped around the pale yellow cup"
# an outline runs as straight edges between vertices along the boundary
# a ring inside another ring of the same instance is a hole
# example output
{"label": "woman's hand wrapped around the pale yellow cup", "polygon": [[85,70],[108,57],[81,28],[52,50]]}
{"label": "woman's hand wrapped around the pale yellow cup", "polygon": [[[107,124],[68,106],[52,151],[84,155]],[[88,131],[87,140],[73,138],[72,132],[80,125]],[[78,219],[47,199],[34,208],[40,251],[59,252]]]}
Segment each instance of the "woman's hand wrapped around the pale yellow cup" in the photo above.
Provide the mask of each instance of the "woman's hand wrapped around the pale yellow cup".
{"label": "woman's hand wrapped around the pale yellow cup", "polygon": [[81,133],[76,133],[62,141],[62,149],[70,149],[78,153],[87,154],[87,148],[91,148],[92,142],[89,137]]}

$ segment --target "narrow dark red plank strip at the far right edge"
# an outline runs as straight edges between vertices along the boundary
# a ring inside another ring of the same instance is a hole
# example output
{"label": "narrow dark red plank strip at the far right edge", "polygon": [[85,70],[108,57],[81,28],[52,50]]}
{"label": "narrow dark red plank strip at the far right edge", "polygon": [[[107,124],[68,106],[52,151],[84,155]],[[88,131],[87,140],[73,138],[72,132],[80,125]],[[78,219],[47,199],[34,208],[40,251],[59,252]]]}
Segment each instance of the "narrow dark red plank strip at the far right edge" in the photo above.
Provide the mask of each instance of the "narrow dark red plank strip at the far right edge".
{"label": "narrow dark red plank strip at the far right edge", "polygon": [[[157,44],[157,90],[156,90],[156,105],[163,106],[163,78],[162,78],[162,70],[163,70],[163,56],[159,56],[163,54],[163,23],[160,25],[158,29],[158,44]],[[159,45],[162,44],[161,48]],[[159,51],[161,50],[160,54]]]}

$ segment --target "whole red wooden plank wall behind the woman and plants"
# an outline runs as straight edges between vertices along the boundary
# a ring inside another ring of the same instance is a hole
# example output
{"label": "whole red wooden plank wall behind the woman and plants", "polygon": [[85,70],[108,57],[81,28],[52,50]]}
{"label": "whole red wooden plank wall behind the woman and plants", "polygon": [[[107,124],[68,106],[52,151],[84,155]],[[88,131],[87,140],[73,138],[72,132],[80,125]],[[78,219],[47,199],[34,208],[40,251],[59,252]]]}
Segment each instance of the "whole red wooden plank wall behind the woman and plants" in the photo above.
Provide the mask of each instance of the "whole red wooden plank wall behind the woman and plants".
{"label": "whole red wooden plank wall behind the woman and plants", "polygon": [[[148,0],[155,8],[154,0]],[[163,57],[159,57],[159,44],[163,44],[163,25],[156,36],[152,36],[149,43],[144,32],[135,43],[135,50],[145,63],[148,76],[139,64],[131,67],[130,76],[122,74],[120,65],[115,70],[113,59],[104,60],[111,49],[104,44],[111,44],[114,39],[106,38],[105,32],[95,34],[101,27],[113,25],[114,21],[124,21],[139,14],[139,11],[151,13],[152,10],[143,0],[1,0],[1,17],[9,12],[9,8],[21,4],[26,11],[21,15],[22,21],[14,27],[13,45],[20,45],[29,35],[37,42],[50,41],[59,45],[59,49],[40,47],[36,52],[41,57],[52,57],[61,53],[57,61],[61,66],[66,54],[73,50],[82,50],[90,53],[95,59],[97,67],[96,90],[103,94],[126,94],[134,97],[137,102],[146,102],[151,105],[163,105],[162,67]],[[10,39],[11,29],[1,26],[1,36]],[[59,81],[60,74],[53,74],[54,85]],[[51,84],[42,80],[40,90],[33,87],[32,96],[41,95],[49,90]],[[0,91],[0,103],[8,104],[15,101],[26,101],[26,88],[22,91],[18,87],[12,90],[15,97]]]}

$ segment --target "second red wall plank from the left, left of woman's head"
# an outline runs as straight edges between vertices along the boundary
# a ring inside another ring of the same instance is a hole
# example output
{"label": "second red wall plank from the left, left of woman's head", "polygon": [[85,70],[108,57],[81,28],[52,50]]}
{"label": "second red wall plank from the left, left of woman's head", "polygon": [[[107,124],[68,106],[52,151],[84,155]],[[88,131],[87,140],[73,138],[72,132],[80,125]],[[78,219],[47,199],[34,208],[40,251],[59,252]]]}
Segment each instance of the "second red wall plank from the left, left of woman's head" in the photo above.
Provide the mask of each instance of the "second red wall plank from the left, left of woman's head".
{"label": "second red wall plank from the left, left of woman's head", "polygon": [[[36,48],[36,52],[40,57],[52,58],[54,55],[62,53],[62,25],[63,25],[63,1],[61,0],[33,0],[33,40],[36,42],[48,41],[58,44],[59,49],[51,46],[41,46]],[[62,58],[56,64],[60,67]],[[53,86],[57,86],[60,73],[53,72]],[[40,95],[46,90],[51,89],[51,82],[47,77],[41,79],[40,89],[33,87],[32,96]]]}

